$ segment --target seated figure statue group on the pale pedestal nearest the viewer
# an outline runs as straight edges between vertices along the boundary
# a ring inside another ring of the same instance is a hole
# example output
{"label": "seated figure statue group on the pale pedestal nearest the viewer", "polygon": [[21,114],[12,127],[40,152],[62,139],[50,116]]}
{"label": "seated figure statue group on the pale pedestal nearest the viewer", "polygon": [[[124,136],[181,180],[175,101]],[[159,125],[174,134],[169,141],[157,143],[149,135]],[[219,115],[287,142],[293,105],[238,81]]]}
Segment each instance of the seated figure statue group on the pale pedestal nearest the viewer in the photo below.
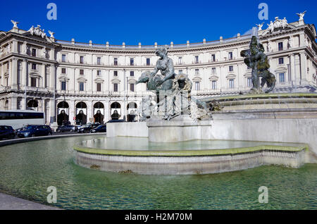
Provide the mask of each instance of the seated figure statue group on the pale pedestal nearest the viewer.
{"label": "seated figure statue group on the pale pedestal nearest the viewer", "polygon": [[[187,114],[194,120],[210,118],[210,114],[206,111],[206,104],[191,97],[192,81],[185,74],[175,74],[173,60],[167,56],[168,46],[160,47],[155,53],[159,56],[159,60],[156,62],[154,71],[142,73],[137,84],[146,83],[147,89],[156,94],[157,104],[155,106],[144,104],[139,114],[146,115],[144,119],[147,119],[150,118],[151,113],[162,112],[163,108],[164,120],[170,120],[182,114]],[[158,73],[159,71],[161,74]],[[163,95],[160,96],[160,94]],[[142,102],[147,101],[149,100],[142,99]]]}

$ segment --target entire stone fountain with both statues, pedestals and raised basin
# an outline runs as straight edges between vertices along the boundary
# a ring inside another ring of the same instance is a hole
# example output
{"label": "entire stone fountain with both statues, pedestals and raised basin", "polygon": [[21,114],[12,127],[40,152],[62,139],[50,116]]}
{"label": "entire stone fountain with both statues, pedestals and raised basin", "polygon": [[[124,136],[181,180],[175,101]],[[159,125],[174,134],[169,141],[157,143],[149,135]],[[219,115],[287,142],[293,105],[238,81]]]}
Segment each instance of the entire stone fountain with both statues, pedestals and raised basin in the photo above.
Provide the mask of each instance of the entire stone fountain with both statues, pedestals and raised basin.
{"label": "entire stone fountain with both statues, pedestals and raised basin", "polygon": [[[252,68],[254,86],[249,94],[199,101],[191,95],[187,75],[175,74],[168,47],[159,48],[156,68],[137,82],[156,95],[155,102],[151,97],[142,99],[138,111],[142,122],[108,123],[107,137],[74,147],[75,163],[117,173],[185,175],[272,164],[299,168],[316,162],[316,138],[307,130],[316,130],[317,113],[311,115],[302,107],[311,105],[317,112],[317,94],[269,93],[275,76],[268,71],[263,51],[255,35],[250,49],[241,53]],[[296,110],[290,109],[291,101]],[[290,131],[292,135],[287,135]]]}

